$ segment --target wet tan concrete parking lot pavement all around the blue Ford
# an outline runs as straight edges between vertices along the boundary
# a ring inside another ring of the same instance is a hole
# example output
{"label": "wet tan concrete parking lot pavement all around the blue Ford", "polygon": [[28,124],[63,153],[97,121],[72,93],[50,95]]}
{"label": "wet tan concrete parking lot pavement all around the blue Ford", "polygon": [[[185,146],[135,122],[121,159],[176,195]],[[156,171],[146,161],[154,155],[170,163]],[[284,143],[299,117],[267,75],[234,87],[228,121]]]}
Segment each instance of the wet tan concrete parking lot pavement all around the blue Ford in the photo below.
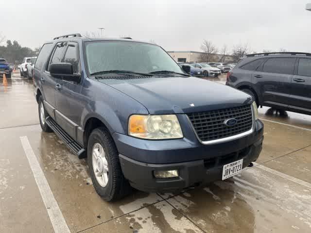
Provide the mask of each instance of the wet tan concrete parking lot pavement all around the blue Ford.
{"label": "wet tan concrete parking lot pavement all around the blue Ford", "polygon": [[18,76],[0,86],[1,233],[49,233],[58,229],[55,222],[72,233],[311,231],[309,116],[287,112],[286,119],[260,110],[269,120],[263,120],[263,151],[241,175],[179,194],[134,191],[108,203],[92,187],[86,161],[41,131],[32,91]]}

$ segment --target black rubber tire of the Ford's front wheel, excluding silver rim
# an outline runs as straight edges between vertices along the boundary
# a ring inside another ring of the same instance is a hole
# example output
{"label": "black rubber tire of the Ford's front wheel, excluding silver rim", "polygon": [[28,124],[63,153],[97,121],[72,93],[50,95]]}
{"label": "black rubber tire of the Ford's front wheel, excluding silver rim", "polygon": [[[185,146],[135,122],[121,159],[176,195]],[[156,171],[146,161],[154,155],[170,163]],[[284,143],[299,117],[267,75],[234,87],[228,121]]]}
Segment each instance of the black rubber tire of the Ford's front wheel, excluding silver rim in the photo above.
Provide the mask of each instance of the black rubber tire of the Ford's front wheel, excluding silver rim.
{"label": "black rubber tire of the Ford's front wheel, excluding silver rim", "polygon": [[[99,143],[103,147],[108,164],[108,183],[104,187],[98,183],[94,174],[92,151],[95,143]],[[87,143],[87,163],[93,186],[98,195],[104,200],[119,200],[130,194],[132,187],[123,176],[117,147],[106,128],[97,128],[89,135]]]}

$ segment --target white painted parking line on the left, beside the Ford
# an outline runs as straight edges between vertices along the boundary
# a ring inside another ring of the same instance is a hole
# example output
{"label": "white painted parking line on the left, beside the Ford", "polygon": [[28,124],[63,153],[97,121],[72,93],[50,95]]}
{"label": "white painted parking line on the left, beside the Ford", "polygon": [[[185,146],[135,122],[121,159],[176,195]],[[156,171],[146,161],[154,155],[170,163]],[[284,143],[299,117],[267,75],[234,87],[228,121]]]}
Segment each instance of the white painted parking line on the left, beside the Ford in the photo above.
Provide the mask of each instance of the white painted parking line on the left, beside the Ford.
{"label": "white painted parking line on the left, beside the Ford", "polygon": [[35,182],[39,188],[42,200],[50,216],[54,232],[70,233],[65,218],[59,209],[57,201],[55,200],[49,183],[43,174],[37,158],[35,157],[35,153],[30,146],[27,136],[22,136],[19,138],[27,156],[29,165],[33,171]]}

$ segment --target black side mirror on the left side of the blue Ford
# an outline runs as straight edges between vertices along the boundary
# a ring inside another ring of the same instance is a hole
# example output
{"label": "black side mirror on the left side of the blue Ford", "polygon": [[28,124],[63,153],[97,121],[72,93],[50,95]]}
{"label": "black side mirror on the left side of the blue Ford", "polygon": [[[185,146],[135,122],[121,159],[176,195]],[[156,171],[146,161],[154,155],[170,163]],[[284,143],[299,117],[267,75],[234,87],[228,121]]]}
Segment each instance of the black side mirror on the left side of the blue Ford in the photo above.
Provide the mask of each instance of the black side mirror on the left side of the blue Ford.
{"label": "black side mirror on the left side of the blue Ford", "polygon": [[75,83],[79,83],[81,79],[81,75],[73,74],[73,68],[70,63],[52,63],[50,65],[50,73],[54,78]]}

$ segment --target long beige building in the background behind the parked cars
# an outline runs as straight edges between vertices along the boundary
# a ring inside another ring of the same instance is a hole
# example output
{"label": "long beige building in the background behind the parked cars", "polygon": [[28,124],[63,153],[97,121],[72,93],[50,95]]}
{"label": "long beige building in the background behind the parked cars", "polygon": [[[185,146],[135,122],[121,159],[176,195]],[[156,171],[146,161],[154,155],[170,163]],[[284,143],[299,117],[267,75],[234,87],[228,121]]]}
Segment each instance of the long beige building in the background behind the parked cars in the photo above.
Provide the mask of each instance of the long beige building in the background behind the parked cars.
{"label": "long beige building in the background behind the parked cars", "polygon": [[[167,51],[176,62],[201,62],[201,55],[204,52],[198,51]],[[230,55],[225,55],[225,61],[222,60],[223,55],[214,54],[213,61],[210,62],[232,62]],[[222,61],[221,61],[222,60]]]}

